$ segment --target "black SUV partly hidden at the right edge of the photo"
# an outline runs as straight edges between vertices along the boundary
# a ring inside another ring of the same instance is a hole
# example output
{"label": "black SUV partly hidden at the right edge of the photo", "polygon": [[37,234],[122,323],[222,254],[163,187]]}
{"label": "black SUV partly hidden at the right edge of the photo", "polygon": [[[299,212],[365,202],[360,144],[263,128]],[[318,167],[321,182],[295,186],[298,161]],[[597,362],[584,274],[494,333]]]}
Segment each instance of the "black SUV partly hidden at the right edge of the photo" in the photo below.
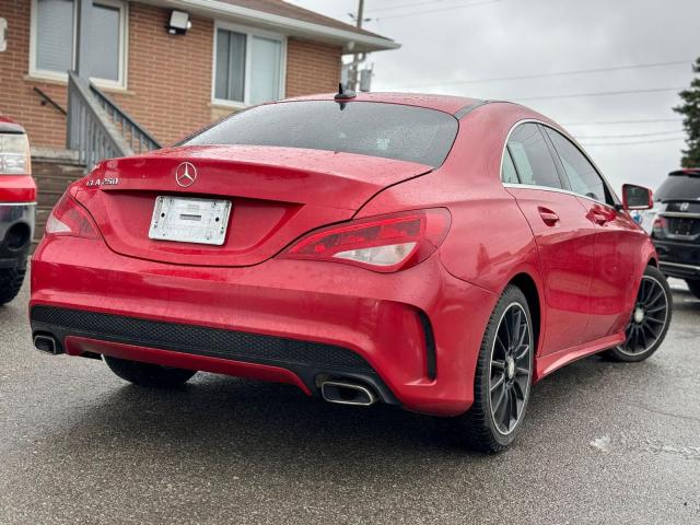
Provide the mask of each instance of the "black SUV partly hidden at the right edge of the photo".
{"label": "black SUV partly hidden at the right edge of the photo", "polygon": [[700,298],[700,168],[669,173],[654,200],[645,214],[653,214],[651,234],[661,270],[685,279]]}

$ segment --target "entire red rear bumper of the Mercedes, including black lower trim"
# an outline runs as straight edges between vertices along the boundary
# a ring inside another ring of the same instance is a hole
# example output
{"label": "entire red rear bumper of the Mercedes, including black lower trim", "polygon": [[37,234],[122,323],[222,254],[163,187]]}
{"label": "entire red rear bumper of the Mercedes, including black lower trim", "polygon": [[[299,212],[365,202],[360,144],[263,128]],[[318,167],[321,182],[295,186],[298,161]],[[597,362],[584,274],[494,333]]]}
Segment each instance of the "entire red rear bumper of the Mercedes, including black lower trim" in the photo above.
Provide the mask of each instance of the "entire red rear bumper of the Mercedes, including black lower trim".
{"label": "entire red rear bumper of the Mercedes, including black lower trim", "polygon": [[438,257],[381,275],[271,259],[246,268],[124,257],[101,241],[44,241],[32,262],[31,320],[69,354],[295,384],[361,380],[389,404],[457,415],[497,296]]}

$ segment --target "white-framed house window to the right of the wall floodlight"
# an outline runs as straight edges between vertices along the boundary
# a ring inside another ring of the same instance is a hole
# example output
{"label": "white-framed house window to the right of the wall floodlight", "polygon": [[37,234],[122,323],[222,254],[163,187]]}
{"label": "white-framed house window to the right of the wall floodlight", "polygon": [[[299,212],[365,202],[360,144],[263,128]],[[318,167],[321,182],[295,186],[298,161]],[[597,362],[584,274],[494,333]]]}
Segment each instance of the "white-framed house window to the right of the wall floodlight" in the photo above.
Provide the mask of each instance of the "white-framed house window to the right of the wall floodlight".
{"label": "white-framed house window to the right of the wall floodlight", "polygon": [[282,37],[217,24],[214,102],[250,105],[281,98],[284,55]]}

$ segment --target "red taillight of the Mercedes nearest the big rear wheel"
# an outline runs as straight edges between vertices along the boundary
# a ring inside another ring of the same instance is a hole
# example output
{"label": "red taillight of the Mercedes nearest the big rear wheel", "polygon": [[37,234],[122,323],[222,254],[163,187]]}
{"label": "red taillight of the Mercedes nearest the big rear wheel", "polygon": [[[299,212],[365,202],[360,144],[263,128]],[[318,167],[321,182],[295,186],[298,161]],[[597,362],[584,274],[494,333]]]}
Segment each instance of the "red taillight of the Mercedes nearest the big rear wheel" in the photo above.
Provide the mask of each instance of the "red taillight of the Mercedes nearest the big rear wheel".
{"label": "red taillight of the Mercedes nearest the big rear wheel", "polygon": [[450,230],[443,208],[373,217],[312,232],[282,254],[374,271],[405,270],[430,257]]}

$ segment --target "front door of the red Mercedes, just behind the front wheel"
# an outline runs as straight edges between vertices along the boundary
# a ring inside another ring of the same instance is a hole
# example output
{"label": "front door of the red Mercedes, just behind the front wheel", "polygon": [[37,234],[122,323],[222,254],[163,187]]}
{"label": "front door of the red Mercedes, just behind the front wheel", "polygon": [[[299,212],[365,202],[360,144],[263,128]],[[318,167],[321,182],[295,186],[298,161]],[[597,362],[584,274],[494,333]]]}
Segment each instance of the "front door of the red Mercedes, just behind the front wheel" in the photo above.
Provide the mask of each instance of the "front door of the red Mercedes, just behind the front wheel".
{"label": "front door of the red Mercedes, just behind the front wheel", "polygon": [[593,163],[568,138],[546,128],[561,160],[571,190],[595,224],[595,259],[591,282],[591,318],[586,340],[619,331],[628,322],[637,295],[639,250],[644,233],[625,211]]}

